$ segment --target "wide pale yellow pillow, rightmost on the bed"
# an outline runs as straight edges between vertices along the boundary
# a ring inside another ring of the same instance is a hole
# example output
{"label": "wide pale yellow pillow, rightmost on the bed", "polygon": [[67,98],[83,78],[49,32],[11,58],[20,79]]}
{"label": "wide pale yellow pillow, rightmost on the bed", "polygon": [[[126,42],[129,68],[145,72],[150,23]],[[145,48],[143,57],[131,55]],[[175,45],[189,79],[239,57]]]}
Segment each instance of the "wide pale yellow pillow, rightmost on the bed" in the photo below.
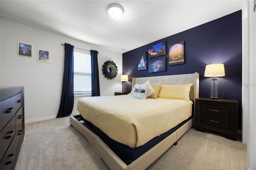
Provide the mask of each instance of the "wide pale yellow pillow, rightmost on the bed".
{"label": "wide pale yellow pillow, rightmost on the bed", "polygon": [[184,85],[162,85],[158,97],[189,100],[191,86],[192,83]]}

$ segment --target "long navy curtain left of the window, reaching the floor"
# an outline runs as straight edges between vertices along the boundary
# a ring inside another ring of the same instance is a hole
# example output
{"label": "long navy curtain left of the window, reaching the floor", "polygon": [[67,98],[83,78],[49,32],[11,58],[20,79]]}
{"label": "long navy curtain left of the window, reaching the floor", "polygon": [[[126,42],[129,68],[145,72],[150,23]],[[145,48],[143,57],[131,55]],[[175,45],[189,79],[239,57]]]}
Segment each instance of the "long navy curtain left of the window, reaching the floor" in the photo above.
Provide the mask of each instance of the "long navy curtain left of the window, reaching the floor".
{"label": "long navy curtain left of the window, reaching the floor", "polygon": [[65,43],[64,75],[58,117],[72,113],[74,106],[74,46]]}

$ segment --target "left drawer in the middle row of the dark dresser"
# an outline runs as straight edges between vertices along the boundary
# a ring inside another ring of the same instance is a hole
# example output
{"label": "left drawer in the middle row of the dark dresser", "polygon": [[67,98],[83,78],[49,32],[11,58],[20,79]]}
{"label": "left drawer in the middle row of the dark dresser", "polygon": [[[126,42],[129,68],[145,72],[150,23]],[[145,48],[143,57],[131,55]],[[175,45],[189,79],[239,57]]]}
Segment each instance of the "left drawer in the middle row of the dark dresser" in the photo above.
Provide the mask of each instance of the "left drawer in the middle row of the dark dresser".
{"label": "left drawer in the middle row of the dark dresser", "polygon": [[0,151],[0,158],[4,157],[4,154],[6,150],[8,149],[10,143],[12,142],[12,139],[15,134],[15,117],[13,117],[8,123],[8,125],[2,130],[0,133],[0,138],[1,138],[1,151]]}

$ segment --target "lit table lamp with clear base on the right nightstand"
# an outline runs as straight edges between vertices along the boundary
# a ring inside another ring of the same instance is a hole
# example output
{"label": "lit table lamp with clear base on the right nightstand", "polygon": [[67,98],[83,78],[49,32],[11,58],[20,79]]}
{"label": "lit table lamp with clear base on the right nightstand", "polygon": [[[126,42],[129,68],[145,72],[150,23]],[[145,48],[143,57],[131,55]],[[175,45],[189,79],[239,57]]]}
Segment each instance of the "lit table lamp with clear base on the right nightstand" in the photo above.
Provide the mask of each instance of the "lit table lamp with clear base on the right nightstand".
{"label": "lit table lamp with clear base on the right nightstand", "polygon": [[218,99],[218,80],[215,77],[225,76],[224,64],[206,65],[204,77],[213,77],[211,81],[211,99]]}

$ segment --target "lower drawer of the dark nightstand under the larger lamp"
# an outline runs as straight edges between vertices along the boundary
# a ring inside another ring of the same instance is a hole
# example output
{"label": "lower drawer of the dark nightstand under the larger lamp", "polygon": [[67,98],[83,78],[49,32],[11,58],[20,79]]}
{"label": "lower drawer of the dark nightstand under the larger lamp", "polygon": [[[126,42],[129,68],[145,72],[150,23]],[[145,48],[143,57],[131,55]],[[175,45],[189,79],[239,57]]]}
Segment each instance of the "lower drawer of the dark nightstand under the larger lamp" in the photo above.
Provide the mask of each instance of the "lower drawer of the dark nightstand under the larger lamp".
{"label": "lower drawer of the dark nightstand under the larger lamp", "polygon": [[201,123],[214,127],[230,129],[230,120],[225,117],[201,114]]}

